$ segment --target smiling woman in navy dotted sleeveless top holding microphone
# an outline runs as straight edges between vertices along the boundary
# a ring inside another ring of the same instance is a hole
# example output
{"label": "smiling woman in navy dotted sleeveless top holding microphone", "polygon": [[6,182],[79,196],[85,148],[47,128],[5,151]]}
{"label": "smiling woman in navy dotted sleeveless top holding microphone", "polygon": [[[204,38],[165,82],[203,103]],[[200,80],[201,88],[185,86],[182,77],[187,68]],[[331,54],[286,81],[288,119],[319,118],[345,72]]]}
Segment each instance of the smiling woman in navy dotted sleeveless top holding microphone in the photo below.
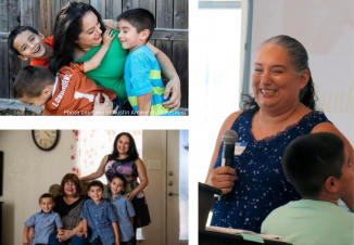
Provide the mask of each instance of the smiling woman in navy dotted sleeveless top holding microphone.
{"label": "smiling woman in navy dotted sleeveless top holding microphone", "polygon": [[[246,95],[243,111],[226,118],[219,131],[206,183],[228,193],[228,202],[214,204],[212,225],[261,231],[275,208],[301,196],[287,181],[281,156],[300,136],[319,131],[345,137],[315,109],[314,83],[305,48],[289,36],[266,40],[255,59],[254,98]],[[232,168],[222,166],[223,133],[233,129],[246,147],[235,156]],[[341,197],[353,211],[353,186]]]}

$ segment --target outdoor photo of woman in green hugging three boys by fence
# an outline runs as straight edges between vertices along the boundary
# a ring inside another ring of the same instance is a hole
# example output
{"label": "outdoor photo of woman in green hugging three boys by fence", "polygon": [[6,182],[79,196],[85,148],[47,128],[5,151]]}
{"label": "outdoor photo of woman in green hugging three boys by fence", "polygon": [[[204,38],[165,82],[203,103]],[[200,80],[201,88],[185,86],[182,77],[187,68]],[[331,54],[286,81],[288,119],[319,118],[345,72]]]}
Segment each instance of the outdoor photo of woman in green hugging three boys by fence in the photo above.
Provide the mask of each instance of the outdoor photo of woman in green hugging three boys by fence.
{"label": "outdoor photo of woman in green hugging three boys by fence", "polygon": [[2,2],[0,115],[188,115],[188,1]]}

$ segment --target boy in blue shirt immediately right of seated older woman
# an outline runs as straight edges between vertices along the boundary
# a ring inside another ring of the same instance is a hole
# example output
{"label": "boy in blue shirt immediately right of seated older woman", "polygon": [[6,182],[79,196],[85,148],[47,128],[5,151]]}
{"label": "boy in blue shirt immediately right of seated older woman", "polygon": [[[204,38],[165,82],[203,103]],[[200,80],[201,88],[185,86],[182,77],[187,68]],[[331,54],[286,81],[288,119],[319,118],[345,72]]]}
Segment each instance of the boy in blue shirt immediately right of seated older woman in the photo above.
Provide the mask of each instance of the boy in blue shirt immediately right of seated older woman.
{"label": "boy in blue shirt immediately right of seated older woman", "polygon": [[90,244],[119,245],[117,219],[112,205],[104,201],[103,183],[93,180],[88,184],[87,193],[91,199],[85,201],[80,218],[84,220],[85,237],[88,236],[88,227],[92,233],[89,236]]}

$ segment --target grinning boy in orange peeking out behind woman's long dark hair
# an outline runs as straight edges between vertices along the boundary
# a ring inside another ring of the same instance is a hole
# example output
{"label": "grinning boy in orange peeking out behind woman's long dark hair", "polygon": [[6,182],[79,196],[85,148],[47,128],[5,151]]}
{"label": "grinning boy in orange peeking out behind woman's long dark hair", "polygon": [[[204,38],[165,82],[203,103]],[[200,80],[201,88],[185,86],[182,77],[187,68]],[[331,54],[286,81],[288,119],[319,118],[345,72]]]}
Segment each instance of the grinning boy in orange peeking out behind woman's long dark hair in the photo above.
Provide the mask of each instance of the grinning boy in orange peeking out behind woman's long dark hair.
{"label": "grinning boy in orange peeking out behind woman's long dark hair", "polygon": [[9,49],[23,61],[30,60],[30,65],[49,66],[53,53],[53,36],[45,38],[30,26],[18,26],[9,35]]}

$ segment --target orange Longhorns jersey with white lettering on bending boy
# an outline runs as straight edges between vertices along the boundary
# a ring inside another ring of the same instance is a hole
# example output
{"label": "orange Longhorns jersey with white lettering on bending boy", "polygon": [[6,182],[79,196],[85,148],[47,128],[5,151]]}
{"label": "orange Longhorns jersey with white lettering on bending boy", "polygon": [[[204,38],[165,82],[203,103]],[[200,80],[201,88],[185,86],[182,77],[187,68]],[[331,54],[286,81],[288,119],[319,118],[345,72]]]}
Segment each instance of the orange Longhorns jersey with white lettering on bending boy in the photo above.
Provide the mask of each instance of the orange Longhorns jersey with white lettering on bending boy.
{"label": "orange Longhorns jersey with white lettering on bending boy", "polygon": [[58,73],[53,96],[47,102],[45,116],[90,116],[97,93],[106,94],[111,101],[114,91],[98,87],[84,74],[84,63],[71,63]]}

